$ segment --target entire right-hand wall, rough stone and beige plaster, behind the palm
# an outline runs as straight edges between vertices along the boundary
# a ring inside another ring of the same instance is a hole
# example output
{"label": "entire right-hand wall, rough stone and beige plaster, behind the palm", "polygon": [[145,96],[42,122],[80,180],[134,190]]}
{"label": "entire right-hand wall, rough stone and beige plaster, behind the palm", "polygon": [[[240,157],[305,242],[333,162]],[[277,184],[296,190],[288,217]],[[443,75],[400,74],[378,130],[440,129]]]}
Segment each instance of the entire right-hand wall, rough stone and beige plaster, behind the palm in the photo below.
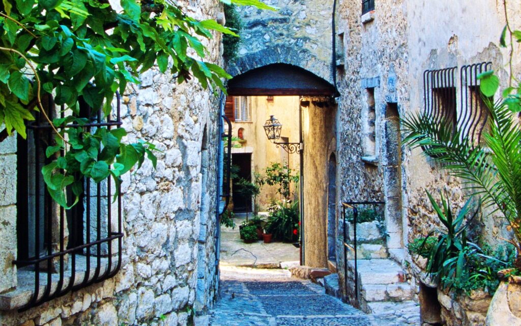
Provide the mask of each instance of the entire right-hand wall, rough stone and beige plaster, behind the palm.
{"label": "entire right-hand wall, rough stone and beige plaster, behind the palm", "polygon": [[[519,27],[519,2],[508,6],[513,25]],[[398,262],[410,264],[407,243],[440,227],[425,190],[436,198],[445,191],[454,210],[462,207],[468,192],[461,180],[450,177],[421,150],[403,146],[396,122],[423,110],[426,69],[491,61],[505,86],[507,52],[496,45],[505,23],[502,10],[502,4],[492,0],[472,5],[449,0],[376,1],[375,10],[362,16],[359,2],[339,3],[336,32],[342,34],[344,63],[337,69],[340,196],[342,201],[386,202],[387,246]],[[516,62],[514,70],[520,67]],[[457,105],[461,114],[460,98]],[[371,143],[368,126],[373,123]],[[375,147],[374,156],[368,146]],[[484,239],[497,244],[504,230],[487,211],[483,215]],[[343,264],[342,257],[338,263]],[[343,271],[339,272],[339,283],[344,284]]]}

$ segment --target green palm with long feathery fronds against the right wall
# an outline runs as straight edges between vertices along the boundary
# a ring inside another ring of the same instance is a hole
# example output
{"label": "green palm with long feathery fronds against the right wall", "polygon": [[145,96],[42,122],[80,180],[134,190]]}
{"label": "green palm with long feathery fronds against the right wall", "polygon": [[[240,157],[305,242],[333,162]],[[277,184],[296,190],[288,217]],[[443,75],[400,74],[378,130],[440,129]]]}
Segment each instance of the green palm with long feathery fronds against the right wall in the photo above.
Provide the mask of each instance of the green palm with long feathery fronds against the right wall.
{"label": "green palm with long feathery fronds against the right wall", "polygon": [[[485,79],[490,73],[480,76]],[[499,82],[498,82],[499,84]],[[451,123],[428,113],[410,114],[402,119],[404,143],[421,147],[425,155],[445,163],[450,173],[463,179],[471,195],[479,195],[486,207],[499,210],[512,227],[515,240],[507,240],[517,249],[515,267],[521,268],[521,130],[517,117],[511,111],[511,96],[493,103],[491,94],[497,86],[482,80],[482,96],[488,111],[490,129],[485,132],[485,146],[474,144]]]}

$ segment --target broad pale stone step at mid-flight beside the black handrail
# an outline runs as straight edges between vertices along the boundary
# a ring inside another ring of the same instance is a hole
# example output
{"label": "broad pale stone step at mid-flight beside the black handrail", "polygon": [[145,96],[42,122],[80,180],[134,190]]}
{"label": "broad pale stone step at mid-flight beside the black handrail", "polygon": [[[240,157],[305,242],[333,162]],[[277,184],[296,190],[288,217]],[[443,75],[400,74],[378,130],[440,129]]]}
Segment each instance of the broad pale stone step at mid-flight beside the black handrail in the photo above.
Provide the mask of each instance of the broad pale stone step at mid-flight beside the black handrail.
{"label": "broad pale stone step at mid-flight beside the black handrail", "polygon": [[[354,260],[350,260],[354,269]],[[391,259],[358,260],[358,276],[360,284],[396,284],[406,280],[405,272],[400,265]]]}

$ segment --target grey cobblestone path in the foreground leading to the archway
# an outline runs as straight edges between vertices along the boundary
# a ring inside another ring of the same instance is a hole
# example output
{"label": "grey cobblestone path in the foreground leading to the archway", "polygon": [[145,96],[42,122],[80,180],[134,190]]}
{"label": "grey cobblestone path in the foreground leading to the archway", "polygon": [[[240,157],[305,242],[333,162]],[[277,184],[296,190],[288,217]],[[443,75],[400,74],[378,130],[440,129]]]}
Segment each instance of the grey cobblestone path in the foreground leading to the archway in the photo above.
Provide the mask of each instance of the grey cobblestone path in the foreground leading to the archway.
{"label": "grey cobblestone path in the foreground leading to the archway", "polygon": [[392,304],[366,315],[285,270],[221,267],[212,326],[402,326],[419,325],[414,303]]}

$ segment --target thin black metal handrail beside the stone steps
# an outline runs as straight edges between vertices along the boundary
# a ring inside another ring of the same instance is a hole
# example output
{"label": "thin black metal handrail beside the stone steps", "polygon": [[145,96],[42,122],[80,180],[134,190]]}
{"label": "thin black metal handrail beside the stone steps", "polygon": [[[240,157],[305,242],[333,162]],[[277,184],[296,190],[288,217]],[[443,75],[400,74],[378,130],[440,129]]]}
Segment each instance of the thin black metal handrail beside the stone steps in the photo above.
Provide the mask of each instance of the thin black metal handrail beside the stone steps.
{"label": "thin black metal handrail beside the stone steps", "polygon": [[[358,209],[359,205],[381,205],[385,204],[383,201],[348,201],[342,203],[342,216],[343,216],[343,241],[342,246],[344,248],[344,288],[347,291],[348,288],[348,249],[354,251],[354,277],[355,277],[355,299],[358,301],[358,254],[356,247],[358,246],[358,240],[356,237],[356,224],[358,223]],[[348,225],[348,221],[346,219],[346,209],[353,210],[353,245],[348,243],[349,233],[347,231],[346,225]]]}

